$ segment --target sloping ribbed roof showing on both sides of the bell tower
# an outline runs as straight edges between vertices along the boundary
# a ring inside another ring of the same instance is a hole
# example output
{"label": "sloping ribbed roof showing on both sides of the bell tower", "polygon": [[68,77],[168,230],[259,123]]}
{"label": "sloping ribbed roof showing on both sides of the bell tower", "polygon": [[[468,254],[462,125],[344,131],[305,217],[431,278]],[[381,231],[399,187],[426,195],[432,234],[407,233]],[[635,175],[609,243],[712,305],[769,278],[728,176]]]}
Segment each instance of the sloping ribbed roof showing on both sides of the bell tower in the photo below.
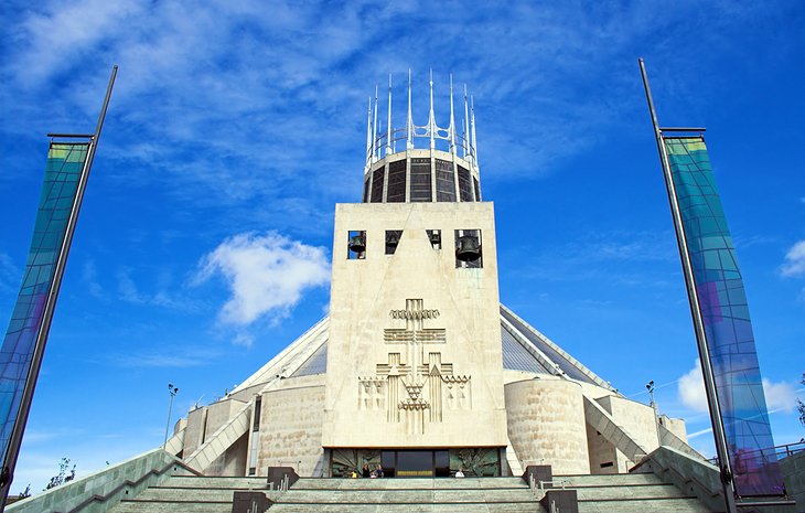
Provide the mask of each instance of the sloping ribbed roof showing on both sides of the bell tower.
{"label": "sloping ribbed roof showing on both sides of the bell tower", "polygon": [[[240,384],[235,392],[277,377],[326,373],[329,325],[330,319],[325,317]],[[556,375],[612,389],[609,383],[503,304],[501,341],[504,368]]]}

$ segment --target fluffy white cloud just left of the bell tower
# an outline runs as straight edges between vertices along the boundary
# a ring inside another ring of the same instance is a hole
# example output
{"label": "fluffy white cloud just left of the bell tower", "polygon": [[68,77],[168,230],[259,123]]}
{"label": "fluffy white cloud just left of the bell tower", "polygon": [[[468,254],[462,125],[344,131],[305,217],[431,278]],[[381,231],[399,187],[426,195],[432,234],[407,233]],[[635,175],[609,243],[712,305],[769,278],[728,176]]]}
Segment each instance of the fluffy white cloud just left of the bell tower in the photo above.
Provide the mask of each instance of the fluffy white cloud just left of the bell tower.
{"label": "fluffy white cloud just left of the bell tower", "polygon": [[[330,281],[323,247],[308,246],[276,233],[239,234],[224,241],[202,259],[196,281],[222,275],[232,292],[219,318],[247,325],[264,316],[285,317],[302,292]],[[238,335],[236,343],[248,344]]]}

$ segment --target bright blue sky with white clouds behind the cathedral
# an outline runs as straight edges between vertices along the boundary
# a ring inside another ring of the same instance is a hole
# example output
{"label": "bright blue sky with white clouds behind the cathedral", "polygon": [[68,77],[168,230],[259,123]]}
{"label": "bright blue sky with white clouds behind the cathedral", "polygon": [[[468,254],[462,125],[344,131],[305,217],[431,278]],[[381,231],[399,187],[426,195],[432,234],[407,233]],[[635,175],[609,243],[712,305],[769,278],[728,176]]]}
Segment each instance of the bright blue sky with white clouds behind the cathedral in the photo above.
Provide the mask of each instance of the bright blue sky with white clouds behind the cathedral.
{"label": "bright blue sky with white clouds behind the cathedral", "polygon": [[175,420],[325,313],[366,99],[408,68],[417,124],[429,68],[440,125],[450,72],[474,95],[502,300],[626,396],[654,380],[710,453],[643,56],[661,122],[708,128],[775,441],[805,436],[805,4],[296,3],[0,7],[7,317],[45,133],[92,131],[120,66],[12,491],[41,490],[62,457],[83,474],[158,446],[169,382]]}

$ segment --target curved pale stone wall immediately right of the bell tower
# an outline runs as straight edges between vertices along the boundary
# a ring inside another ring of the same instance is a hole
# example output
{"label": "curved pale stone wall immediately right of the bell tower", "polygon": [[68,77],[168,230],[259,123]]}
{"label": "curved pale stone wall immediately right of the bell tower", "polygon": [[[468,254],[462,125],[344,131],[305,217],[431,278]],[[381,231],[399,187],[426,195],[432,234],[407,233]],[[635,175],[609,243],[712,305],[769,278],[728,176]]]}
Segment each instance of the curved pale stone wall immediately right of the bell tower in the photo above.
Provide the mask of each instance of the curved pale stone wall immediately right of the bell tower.
{"label": "curved pale stone wall immediately right of the bell tower", "polygon": [[566,380],[528,380],[505,387],[508,438],[523,468],[550,464],[555,474],[589,473],[581,387]]}

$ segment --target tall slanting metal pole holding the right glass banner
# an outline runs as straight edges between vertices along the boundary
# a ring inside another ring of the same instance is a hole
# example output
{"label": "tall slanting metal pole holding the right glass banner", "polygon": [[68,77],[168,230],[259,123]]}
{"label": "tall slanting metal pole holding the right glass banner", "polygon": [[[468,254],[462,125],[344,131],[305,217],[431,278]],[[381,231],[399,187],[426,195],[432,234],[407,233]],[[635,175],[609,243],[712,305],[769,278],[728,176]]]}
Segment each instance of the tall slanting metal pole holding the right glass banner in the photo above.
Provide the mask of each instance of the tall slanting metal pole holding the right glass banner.
{"label": "tall slanting metal pole holding the right glass banner", "polygon": [[663,131],[657,122],[657,114],[654,110],[654,100],[652,99],[652,90],[648,87],[648,77],[646,76],[645,63],[638,58],[640,73],[643,77],[643,88],[645,89],[646,100],[648,101],[648,113],[652,116],[652,125],[654,126],[654,137],[657,140],[657,150],[659,150],[659,161],[663,167],[663,177],[665,178],[665,188],[668,192],[668,202],[670,203],[670,214],[674,218],[674,229],[676,231],[676,241],[679,246],[679,258],[681,259],[683,275],[685,276],[685,286],[688,291],[688,300],[690,303],[690,314],[694,321],[694,331],[696,332],[696,344],[699,350],[699,360],[701,361],[701,374],[705,378],[705,394],[707,395],[707,405],[710,412],[710,424],[712,425],[712,434],[716,442],[716,453],[719,459],[719,470],[721,473],[721,484],[723,485],[724,505],[728,513],[736,513],[736,490],[733,483],[732,468],[730,466],[729,450],[727,448],[727,438],[724,437],[723,424],[721,421],[721,406],[716,394],[716,380],[712,372],[712,363],[710,361],[710,350],[707,346],[707,333],[705,332],[705,323],[701,319],[701,310],[699,309],[699,296],[696,291],[696,280],[694,278],[693,264],[688,253],[688,242],[685,236],[685,226],[683,224],[681,212],[679,210],[679,201],[676,196],[676,186],[670,174],[670,164],[668,162],[668,153],[665,151],[663,142]]}

